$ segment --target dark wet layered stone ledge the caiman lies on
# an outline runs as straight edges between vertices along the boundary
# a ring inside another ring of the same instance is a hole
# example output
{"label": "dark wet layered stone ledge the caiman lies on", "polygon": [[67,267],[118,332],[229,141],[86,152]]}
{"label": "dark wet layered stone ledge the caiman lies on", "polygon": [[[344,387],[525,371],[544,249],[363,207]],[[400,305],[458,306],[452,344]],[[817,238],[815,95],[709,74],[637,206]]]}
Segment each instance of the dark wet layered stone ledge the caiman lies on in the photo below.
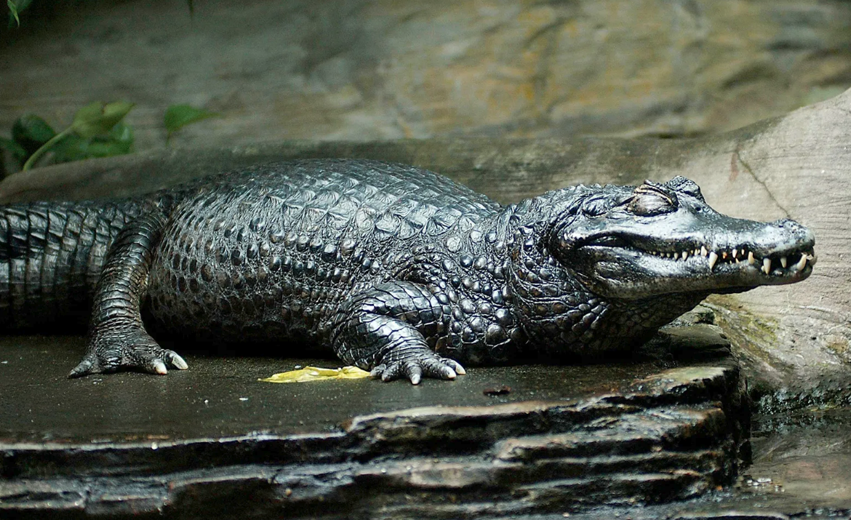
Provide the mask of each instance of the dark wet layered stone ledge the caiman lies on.
{"label": "dark wet layered stone ledge the caiman lies on", "polygon": [[712,325],[669,327],[610,365],[412,387],[271,385],[257,377],[292,360],[203,356],[166,377],[68,381],[82,338],[7,337],[0,517],[488,518],[693,499],[746,452],[728,347]]}

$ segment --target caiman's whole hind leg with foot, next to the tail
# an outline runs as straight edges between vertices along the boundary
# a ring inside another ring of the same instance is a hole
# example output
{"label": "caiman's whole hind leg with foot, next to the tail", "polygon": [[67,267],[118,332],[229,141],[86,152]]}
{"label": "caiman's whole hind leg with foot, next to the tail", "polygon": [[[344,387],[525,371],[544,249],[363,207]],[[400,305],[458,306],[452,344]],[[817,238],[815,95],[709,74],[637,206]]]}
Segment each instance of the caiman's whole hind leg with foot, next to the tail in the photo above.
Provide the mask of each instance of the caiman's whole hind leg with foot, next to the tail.
{"label": "caiman's whole hind leg with foot, next to the tail", "polygon": [[89,345],[83,361],[69,377],[117,370],[165,374],[168,367],[187,368],[183,358],[160,347],[148,335],[140,313],[153,250],[165,223],[163,210],[153,207],[128,223],[117,236],[94,291]]}

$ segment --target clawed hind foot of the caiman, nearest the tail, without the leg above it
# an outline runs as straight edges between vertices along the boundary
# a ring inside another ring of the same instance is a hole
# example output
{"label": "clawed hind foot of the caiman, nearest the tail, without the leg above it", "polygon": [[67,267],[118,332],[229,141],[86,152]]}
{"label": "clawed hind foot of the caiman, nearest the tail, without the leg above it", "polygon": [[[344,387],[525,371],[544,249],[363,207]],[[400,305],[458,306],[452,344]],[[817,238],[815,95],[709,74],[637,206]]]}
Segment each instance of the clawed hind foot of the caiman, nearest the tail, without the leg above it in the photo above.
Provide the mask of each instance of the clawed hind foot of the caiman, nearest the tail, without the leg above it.
{"label": "clawed hind foot of the caiman, nearest the tail, without the leg above it", "polygon": [[144,331],[133,331],[94,337],[83,361],[71,370],[68,377],[118,370],[167,374],[169,368],[186,370],[189,365],[178,353],[157,345]]}

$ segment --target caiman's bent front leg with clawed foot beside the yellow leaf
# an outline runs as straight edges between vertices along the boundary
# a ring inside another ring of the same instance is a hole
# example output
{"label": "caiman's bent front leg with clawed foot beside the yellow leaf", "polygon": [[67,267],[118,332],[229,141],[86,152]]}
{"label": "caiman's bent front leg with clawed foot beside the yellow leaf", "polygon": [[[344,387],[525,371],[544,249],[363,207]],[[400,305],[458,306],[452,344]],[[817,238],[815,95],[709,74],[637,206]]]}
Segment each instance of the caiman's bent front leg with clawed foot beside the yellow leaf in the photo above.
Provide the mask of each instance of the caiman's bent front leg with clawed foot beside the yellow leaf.
{"label": "caiman's bent front leg with clawed foot beside the yellow leaf", "polygon": [[383,381],[423,376],[454,379],[466,372],[454,359],[429,348],[447,326],[451,309],[423,285],[392,282],[351,298],[334,328],[334,352],[344,362],[372,370]]}

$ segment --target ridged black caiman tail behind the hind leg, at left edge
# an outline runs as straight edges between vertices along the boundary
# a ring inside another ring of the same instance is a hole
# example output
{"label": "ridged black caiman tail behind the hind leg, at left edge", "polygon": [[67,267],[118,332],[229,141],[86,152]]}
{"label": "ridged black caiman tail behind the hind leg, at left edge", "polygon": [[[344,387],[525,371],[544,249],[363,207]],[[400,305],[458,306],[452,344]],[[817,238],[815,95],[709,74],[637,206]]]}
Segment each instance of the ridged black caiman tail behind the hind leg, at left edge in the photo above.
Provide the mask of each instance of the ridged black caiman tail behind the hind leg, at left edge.
{"label": "ridged black caiman tail behind the hind leg, at left edge", "polygon": [[85,327],[106,252],[139,211],[134,201],[0,206],[0,331]]}

